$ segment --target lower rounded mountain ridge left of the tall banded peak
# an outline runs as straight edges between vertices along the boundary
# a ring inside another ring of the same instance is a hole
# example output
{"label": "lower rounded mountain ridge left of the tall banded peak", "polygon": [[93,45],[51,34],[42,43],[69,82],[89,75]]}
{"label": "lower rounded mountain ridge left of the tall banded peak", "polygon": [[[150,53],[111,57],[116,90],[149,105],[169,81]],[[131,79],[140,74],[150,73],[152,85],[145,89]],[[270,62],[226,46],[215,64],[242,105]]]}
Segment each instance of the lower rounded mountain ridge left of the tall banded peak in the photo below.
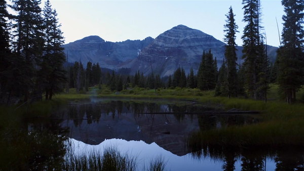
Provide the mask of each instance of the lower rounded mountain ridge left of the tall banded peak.
{"label": "lower rounded mountain ridge left of the tall banded peak", "polygon": [[141,49],[148,46],[154,39],[126,40],[122,42],[105,41],[97,35],[63,45],[68,62],[81,61],[86,66],[88,61],[99,63],[101,67],[116,69],[117,66],[136,58]]}

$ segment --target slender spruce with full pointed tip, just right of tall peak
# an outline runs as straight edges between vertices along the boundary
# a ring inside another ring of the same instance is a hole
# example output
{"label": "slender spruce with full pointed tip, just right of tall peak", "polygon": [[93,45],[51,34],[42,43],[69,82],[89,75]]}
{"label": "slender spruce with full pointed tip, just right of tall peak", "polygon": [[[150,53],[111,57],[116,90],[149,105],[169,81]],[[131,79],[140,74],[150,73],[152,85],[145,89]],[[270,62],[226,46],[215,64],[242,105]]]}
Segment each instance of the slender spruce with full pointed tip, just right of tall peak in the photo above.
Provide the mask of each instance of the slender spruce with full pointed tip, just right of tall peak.
{"label": "slender spruce with full pointed tip, just right of tall peak", "polygon": [[[236,67],[236,62],[237,62],[237,49],[236,49],[236,33],[238,32],[238,26],[235,22],[235,15],[233,13],[232,7],[229,8],[229,13],[226,15],[227,20],[226,24],[224,25],[224,32],[225,37],[224,41],[226,42],[225,46],[225,64],[226,64],[226,93],[227,96],[230,98],[232,97],[237,97],[238,92],[237,92],[237,67]],[[222,69],[223,70],[223,69]],[[224,75],[222,75],[224,76]]]}

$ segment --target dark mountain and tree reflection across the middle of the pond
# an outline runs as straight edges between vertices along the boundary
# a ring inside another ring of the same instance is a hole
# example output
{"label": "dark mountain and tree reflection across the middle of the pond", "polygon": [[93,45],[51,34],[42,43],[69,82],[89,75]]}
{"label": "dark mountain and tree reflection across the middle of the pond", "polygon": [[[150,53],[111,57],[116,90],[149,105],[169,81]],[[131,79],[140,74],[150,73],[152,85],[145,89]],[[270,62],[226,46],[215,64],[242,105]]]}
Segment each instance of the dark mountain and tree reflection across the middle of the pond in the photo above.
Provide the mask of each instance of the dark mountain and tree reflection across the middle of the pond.
{"label": "dark mountain and tree reflection across the middle of the pond", "polygon": [[69,105],[57,117],[64,118],[62,126],[69,128],[70,138],[87,144],[97,145],[114,138],[142,140],[155,142],[179,156],[189,153],[187,136],[194,131],[258,121],[248,115],[184,114],[212,110],[215,109],[193,102],[96,101]]}

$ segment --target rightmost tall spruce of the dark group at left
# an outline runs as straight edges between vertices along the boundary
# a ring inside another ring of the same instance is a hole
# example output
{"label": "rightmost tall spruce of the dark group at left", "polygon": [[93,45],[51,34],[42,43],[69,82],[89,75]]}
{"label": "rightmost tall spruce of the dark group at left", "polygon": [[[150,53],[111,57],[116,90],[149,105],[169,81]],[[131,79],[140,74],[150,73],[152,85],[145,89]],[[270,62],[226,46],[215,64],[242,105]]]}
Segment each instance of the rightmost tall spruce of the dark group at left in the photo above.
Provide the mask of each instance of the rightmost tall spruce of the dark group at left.
{"label": "rightmost tall spruce of the dark group at left", "polygon": [[52,9],[50,1],[45,2],[43,10],[44,28],[44,56],[42,58],[41,72],[44,77],[46,99],[52,99],[54,93],[63,90],[66,81],[63,63],[66,61],[63,52],[63,36],[58,23],[57,13]]}

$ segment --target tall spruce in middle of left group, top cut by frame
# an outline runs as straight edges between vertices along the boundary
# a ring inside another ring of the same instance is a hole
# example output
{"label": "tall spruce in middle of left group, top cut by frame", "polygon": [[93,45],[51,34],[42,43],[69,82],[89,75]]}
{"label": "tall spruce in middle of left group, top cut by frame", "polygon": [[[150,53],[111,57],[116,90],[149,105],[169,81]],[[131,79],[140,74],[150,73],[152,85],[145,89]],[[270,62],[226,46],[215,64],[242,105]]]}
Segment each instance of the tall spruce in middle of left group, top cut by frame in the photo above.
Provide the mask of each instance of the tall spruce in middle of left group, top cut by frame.
{"label": "tall spruce in middle of left group, top cut by frame", "polygon": [[35,62],[42,55],[42,18],[40,0],[15,0],[12,9],[14,16],[14,55],[16,62],[15,86],[27,101],[34,92]]}

